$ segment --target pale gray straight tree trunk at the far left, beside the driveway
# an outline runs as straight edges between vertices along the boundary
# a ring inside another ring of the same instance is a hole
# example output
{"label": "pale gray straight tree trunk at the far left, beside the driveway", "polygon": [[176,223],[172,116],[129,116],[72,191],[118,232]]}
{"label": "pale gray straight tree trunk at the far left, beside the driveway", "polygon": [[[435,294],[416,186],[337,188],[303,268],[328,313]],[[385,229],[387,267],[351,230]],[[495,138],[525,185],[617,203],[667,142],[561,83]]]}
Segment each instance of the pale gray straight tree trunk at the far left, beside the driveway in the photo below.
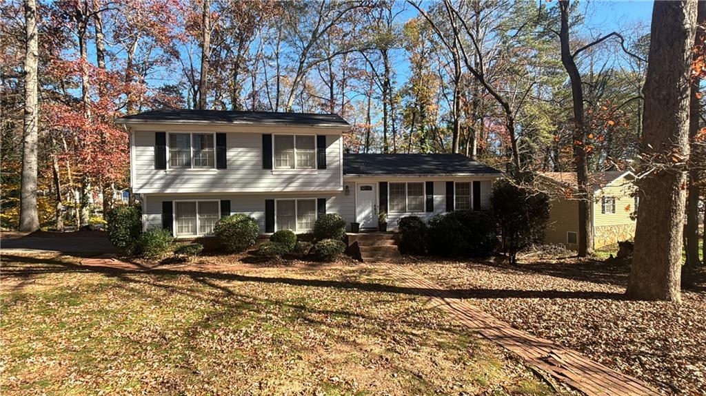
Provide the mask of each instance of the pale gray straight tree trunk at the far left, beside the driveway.
{"label": "pale gray straight tree trunk at the far left, beside the driveway", "polygon": [[20,190],[20,231],[40,228],[37,215],[37,140],[39,108],[37,107],[37,3],[25,0],[25,119],[22,144],[22,186]]}

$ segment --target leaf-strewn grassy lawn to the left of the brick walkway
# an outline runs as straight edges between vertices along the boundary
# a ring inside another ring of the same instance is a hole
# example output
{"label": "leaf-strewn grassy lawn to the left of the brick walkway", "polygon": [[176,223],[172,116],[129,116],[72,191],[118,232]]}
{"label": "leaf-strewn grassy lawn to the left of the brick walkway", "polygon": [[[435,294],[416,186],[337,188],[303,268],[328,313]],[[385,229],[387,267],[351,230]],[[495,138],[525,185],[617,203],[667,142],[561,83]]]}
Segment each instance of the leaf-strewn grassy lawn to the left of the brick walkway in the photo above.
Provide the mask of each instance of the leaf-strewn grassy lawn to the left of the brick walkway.
{"label": "leaf-strewn grassy lawn to the left of the brick walkway", "polygon": [[3,255],[3,395],[551,394],[370,266],[78,262]]}

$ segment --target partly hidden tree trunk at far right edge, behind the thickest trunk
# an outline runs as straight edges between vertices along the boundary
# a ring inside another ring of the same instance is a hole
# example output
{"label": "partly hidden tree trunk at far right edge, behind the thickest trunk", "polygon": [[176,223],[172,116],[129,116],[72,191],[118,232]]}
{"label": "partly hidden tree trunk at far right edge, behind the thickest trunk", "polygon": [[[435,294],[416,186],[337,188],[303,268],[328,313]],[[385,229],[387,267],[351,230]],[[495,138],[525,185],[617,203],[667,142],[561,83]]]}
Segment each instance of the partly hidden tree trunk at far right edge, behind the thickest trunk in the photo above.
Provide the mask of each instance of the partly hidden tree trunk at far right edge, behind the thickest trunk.
{"label": "partly hidden tree trunk at far right edge, behind the thickest trunk", "polygon": [[[697,32],[695,42],[701,45],[704,42],[705,33],[703,24],[706,22],[706,1],[698,2],[697,11]],[[693,53],[693,60],[698,59],[698,53]],[[695,151],[695,137],[699,132],[699,117],[701,106],[699,103],[699,78],[693,78],[691,82],[690,109],[689,109],[689,142],[691,142],[691,152]],[[699,178],[699,171],[695,163],[690,164],[688,201],[686,204],[686,265],[681,268],[682,283],[692,283],[691,278],[696,268],[700,265],[699,260],[699,187],[696,184]]]}

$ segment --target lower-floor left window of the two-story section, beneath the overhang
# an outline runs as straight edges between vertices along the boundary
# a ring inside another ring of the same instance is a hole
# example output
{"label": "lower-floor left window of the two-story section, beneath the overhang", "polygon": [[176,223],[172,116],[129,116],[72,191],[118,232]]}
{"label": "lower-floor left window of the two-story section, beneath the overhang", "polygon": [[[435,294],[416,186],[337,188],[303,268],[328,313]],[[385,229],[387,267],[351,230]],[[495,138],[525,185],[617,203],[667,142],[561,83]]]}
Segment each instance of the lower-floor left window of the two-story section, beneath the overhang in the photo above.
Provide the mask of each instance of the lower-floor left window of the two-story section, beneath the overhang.
{"label": "lower-floor left window of the two-story section, beneath the overhang", "polygon": [[174,202],[177,237],[213,234],[218,218],[218,201]]}

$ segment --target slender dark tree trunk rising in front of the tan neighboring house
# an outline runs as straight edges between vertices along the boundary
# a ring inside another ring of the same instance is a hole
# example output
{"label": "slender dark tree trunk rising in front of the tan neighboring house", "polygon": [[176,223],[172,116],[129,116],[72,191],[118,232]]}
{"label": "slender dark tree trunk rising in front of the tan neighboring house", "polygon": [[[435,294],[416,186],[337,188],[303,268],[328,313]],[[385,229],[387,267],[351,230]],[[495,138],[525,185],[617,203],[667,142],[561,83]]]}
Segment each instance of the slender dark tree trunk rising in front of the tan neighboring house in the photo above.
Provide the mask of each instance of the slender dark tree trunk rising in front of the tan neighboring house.
{"label": "slender dark tree trunk rising in front of the tan neighboring house", "polygon": [[571,81],[571,95],[573,97],[573,151],[576,167],[576,181],[578,182],[578,255],[585,257],[593,250],[593,221],[591,218],[592,194],[588,182],[588,164],[586,161],[585,135],[586,125],[583,109],[583,87],[581,73],[569,47],[569,0],[559,1],[561,8],[561,63],[566,68],[566,73]]}

